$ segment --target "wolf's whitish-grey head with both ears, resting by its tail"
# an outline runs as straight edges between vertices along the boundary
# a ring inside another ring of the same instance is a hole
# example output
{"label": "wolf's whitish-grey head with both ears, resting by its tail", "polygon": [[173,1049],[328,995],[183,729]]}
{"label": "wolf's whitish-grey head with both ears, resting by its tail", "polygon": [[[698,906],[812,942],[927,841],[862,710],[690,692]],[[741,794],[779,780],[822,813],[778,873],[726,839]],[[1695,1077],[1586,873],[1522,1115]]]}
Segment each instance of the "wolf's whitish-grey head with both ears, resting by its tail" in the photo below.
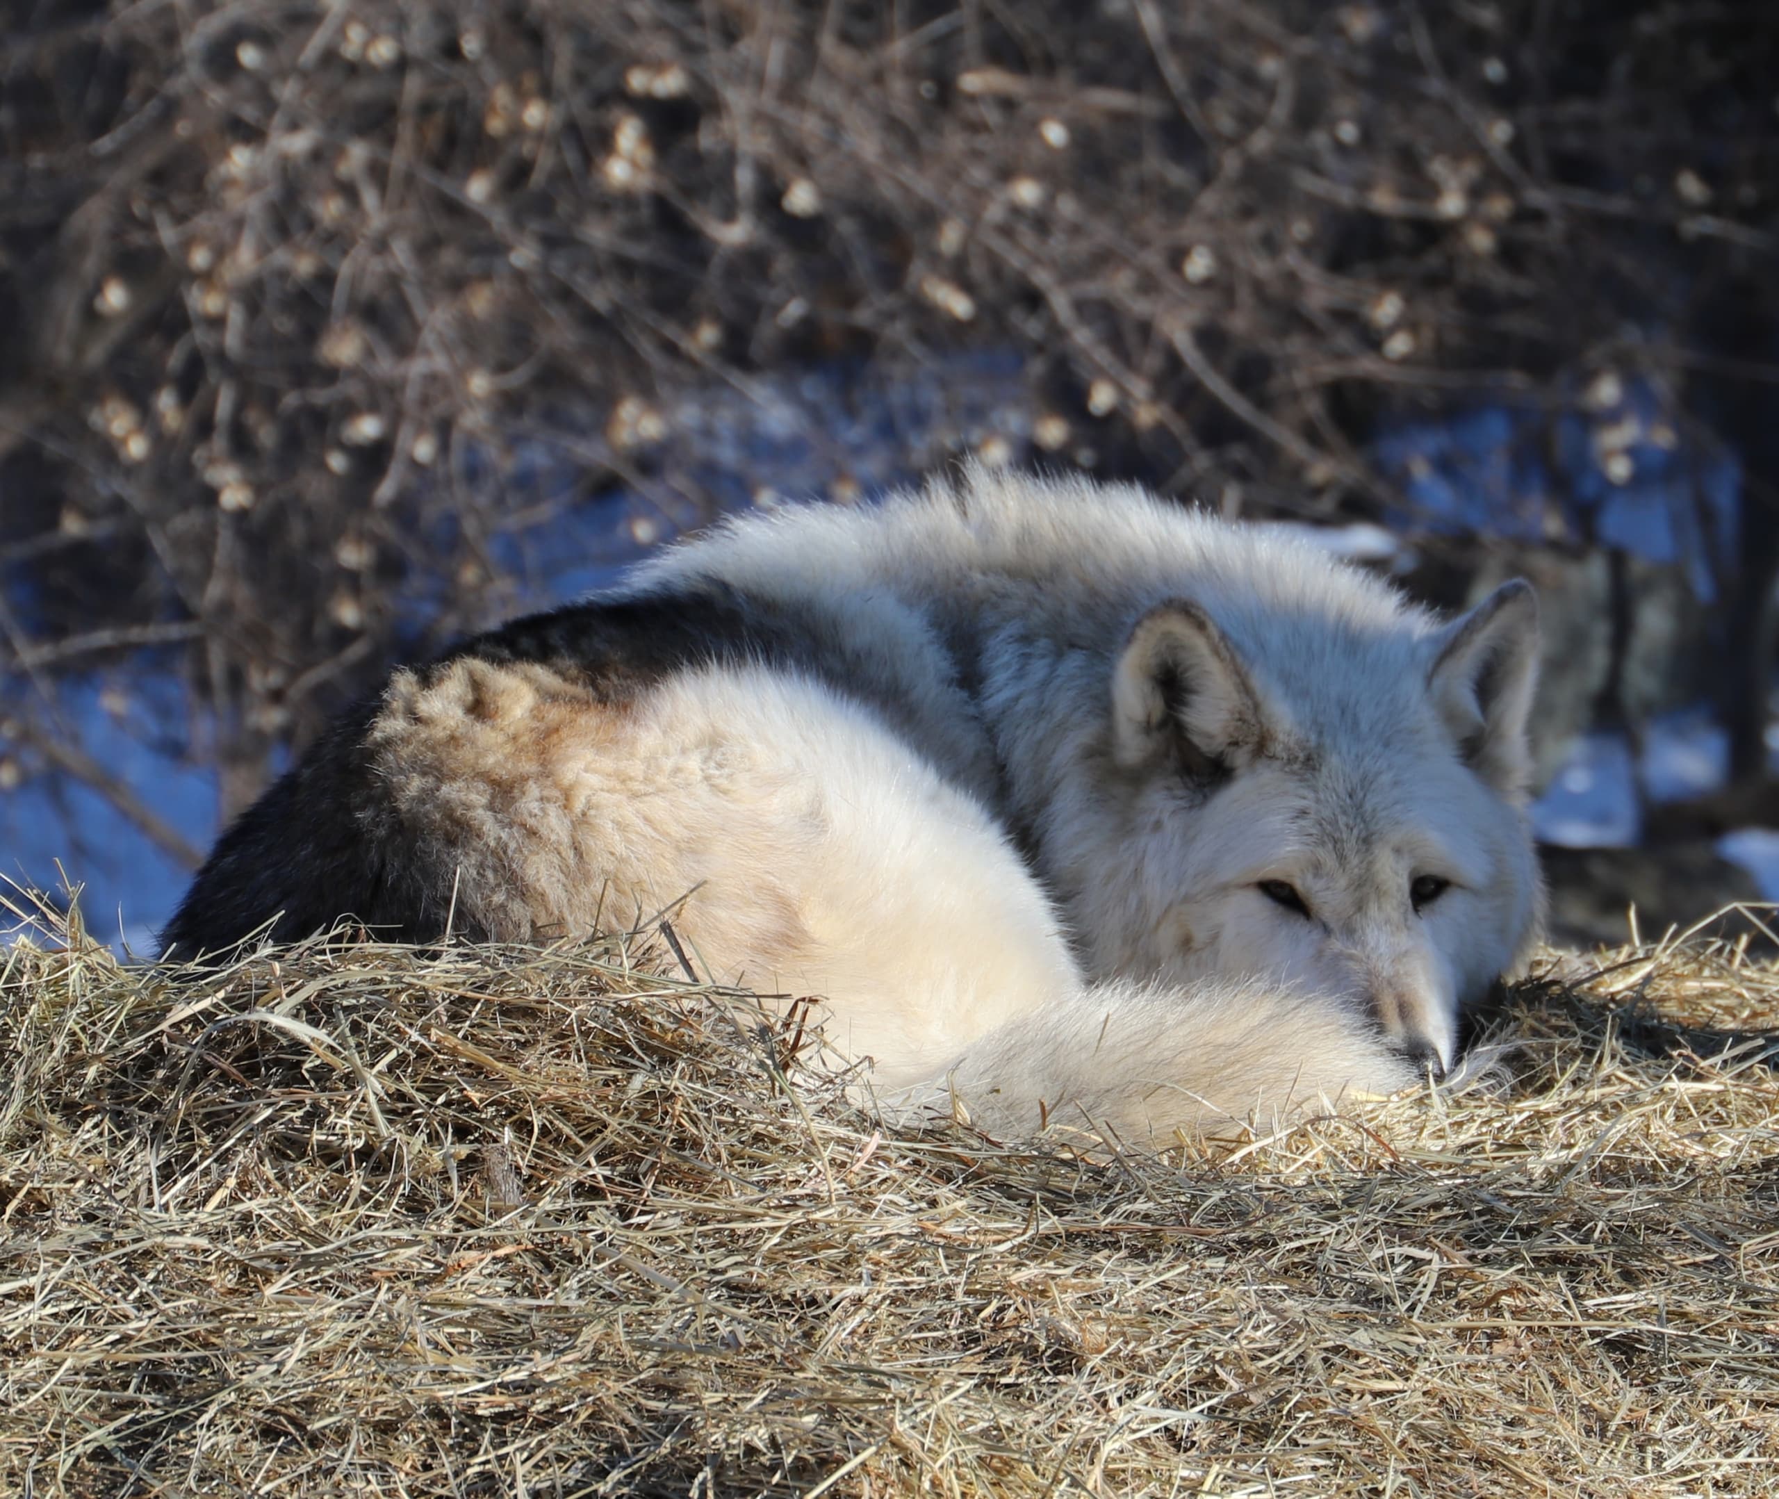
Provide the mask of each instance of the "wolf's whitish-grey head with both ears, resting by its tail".
{"label": "wolf's whitish-grey head with both ears, resting by its tail", "polygon": [[1144,613],[1112,679],[1099,971],[1261,973],[1368,1012],[1443,1072],[1459,1015],[1528,946],[1537,603],[1450,626]]}

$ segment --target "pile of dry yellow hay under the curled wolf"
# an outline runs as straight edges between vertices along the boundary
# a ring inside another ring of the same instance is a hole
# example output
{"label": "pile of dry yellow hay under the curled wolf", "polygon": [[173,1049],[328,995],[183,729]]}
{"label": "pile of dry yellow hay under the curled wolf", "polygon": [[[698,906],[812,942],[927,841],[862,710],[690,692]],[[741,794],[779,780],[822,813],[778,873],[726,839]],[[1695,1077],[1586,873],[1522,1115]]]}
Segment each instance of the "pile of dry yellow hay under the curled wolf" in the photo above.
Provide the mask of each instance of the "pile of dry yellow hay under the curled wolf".
{"label": "pile of dry yellow hay under the curled wolf", "polygon": [[18,944],[0,1490],[1770,1492],[1779,971],[1544,969],[1507,1085],[1096,1161],[616,946]]}

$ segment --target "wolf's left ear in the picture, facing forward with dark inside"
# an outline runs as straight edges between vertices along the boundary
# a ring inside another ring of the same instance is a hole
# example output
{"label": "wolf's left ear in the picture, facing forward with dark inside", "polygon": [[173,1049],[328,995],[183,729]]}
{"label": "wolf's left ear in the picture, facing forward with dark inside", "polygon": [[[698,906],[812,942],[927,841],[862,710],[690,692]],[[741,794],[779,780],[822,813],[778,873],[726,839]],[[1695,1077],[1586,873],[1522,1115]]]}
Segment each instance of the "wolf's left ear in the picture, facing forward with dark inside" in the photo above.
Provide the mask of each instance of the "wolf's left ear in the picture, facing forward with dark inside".
{"label": "wolf's left ear in the picture, facing forward with dark inside", "polygon": [[1268,722],[1247,667],[1203,608],[1176,599],[1137,621],[1112,672],[1121,766],[1174,754],[1210,775],[1231,752],[1260,752]]}

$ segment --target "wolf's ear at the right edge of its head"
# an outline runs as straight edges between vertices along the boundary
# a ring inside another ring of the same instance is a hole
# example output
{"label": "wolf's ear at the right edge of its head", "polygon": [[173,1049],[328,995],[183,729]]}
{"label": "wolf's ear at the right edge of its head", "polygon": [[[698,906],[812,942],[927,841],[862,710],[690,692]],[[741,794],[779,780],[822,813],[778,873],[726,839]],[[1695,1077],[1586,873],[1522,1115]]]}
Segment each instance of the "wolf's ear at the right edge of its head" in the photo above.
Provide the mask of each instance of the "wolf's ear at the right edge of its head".
{"label": "wolf's ear at the right edge of its head", "polygon": [[1532,777],[1526,720],[1537,681],[1539,599],[1525,578],[1501,583],[1453,621],[1427,672],[1464,759],[1505,797],[1523,797]]}

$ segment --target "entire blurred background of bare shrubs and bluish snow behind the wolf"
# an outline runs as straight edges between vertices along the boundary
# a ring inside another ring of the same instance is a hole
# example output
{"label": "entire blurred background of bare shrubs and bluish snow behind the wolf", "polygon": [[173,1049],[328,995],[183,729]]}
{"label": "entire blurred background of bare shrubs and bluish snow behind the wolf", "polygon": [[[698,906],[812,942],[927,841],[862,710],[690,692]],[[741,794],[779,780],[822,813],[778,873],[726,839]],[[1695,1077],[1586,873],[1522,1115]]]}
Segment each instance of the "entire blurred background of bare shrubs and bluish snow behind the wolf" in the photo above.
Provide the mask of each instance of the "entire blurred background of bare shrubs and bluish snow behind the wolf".
{"label": "entire blurred background of bare shrubs and bluish snow behind the wolf", "polygon": [[96,926],[393,658],[966,453],[1526,573],[1560,914],[1752,893],[1779,7],[5,14],[0,854]]}

